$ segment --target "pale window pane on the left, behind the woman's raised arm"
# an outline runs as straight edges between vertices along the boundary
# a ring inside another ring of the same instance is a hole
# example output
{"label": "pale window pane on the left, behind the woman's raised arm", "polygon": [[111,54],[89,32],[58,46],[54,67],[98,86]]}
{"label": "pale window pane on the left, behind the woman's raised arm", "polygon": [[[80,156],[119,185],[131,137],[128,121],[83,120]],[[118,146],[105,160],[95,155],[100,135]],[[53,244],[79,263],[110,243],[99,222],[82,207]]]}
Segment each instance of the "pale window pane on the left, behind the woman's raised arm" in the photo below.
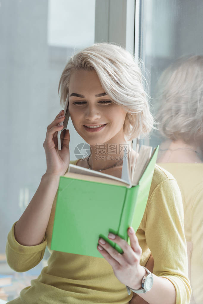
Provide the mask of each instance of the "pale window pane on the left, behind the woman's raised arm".
{"label": "pale window pane on the left, behind the woman's raised arm", "polygon": [[[1,211],[0,275],[12,274],[8,300],[40,274],[49,252],[35,268],[17,273],[5,263],[7,235],[46,171],[43,142],[47,126],[62,109],[60,75],[73,51],[95,41],[95,0],[0,3],[1,27]],[[74,141],[79,135],[72,122]],[[74,159],[74,149],[70,155]]]}

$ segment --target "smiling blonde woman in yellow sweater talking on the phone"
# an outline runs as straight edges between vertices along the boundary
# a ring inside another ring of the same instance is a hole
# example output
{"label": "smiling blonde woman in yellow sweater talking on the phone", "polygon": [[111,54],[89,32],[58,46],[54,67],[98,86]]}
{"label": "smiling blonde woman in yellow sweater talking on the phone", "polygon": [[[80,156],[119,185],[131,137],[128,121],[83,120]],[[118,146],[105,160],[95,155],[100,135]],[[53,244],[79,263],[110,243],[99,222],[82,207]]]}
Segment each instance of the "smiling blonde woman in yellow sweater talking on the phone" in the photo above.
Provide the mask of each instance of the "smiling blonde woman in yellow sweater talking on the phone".
{"label": "smiling blonde woman in yellow sweater talking on the phone", "polygon": [[[88,160],[72,164],[121,177],[124,150],[119,147],[155,128],[142,80],[132,55],[111,43],[95,43],[71,57],[59,82],[60,102],[64,106],[69,93],[74,128],[92,152]],[[57,114],[47,127],[43,143],[46,173],[8,235],[6,257],[15,271],[33,268],[43,258],[45,247],[50,250],[59,178],[70,163],[68,130],[62,150],[57,147],[58,123],[64,120],[63,114]],[[88,128],[92,125],[105,126]],[[110,153],[112,146],[115,149]],[[130,161],[137,157],[136,152],[131,150],[129,157]],[[50,250],[48,266],[9,303],[129,303],[133,292],[129,295],[126,286],[141,288],[147,275],[143,266],[151,253],[153,284],[139,298],[151,304],[189,303],[191,286],[181,193],[174,177],[157,165],[143,219],[136,234],[128,229],[128,235],[130,246],[120,237],[109,235],[123,254],[98,240],[95,246],[104,258]]]}

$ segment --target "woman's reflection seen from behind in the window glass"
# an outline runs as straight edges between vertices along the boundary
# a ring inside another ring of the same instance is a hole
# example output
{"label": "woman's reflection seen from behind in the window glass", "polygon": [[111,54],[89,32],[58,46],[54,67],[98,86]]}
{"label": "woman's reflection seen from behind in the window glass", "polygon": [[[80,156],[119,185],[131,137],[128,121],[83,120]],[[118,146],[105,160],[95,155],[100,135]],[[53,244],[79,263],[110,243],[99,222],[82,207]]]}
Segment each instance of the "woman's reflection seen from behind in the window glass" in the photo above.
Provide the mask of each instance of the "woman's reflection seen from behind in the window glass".
{"label": "woman's reflection seen from behind in the window glass", "polygon": [[[181,57],[159,80],[157,163],[181,190],[188,248],[190,304],[203,303],[203,56]],[[189,174],[188,174],[189,173]]]}

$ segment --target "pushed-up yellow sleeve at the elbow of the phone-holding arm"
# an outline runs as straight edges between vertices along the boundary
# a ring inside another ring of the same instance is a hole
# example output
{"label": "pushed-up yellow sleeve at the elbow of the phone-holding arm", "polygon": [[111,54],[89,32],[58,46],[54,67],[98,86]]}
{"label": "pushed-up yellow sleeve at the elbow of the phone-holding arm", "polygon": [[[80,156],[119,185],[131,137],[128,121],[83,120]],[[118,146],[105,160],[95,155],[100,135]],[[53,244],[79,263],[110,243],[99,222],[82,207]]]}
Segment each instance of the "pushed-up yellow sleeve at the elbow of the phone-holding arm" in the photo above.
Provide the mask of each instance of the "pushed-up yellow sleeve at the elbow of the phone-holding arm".
{"label": "pushed-up yellow sleeve at the elbow of the phone-holding arm", "polygon": [[40,263],[46,249],[46,236],[44,235],[42,243],[35,246],[24,246],[17,242],[14,234],[14,227],[17,221],[13,224],[9,231],[6,242],[6,259],[7,263],[16,272],[24,272],[35,267]]}

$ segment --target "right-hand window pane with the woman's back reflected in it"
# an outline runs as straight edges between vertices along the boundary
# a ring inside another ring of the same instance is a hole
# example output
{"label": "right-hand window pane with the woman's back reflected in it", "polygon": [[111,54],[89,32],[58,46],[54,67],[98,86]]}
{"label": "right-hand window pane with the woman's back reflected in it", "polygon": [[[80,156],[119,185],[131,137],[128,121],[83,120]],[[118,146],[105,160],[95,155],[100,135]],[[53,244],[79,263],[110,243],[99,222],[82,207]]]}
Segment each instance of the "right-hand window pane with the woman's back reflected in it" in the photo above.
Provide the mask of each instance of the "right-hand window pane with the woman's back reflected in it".
{"label": "right-hand window pane with the woman's back reflected in it", "polygon": [[203,2],[144,0],[140,7],[139,56],[150,72],[145,75],[153,112],[160,123],[159,131],[146,143],[154,147],[160,144],[157,164],[179,185],[192,288],[190,303],[201,303]]}

